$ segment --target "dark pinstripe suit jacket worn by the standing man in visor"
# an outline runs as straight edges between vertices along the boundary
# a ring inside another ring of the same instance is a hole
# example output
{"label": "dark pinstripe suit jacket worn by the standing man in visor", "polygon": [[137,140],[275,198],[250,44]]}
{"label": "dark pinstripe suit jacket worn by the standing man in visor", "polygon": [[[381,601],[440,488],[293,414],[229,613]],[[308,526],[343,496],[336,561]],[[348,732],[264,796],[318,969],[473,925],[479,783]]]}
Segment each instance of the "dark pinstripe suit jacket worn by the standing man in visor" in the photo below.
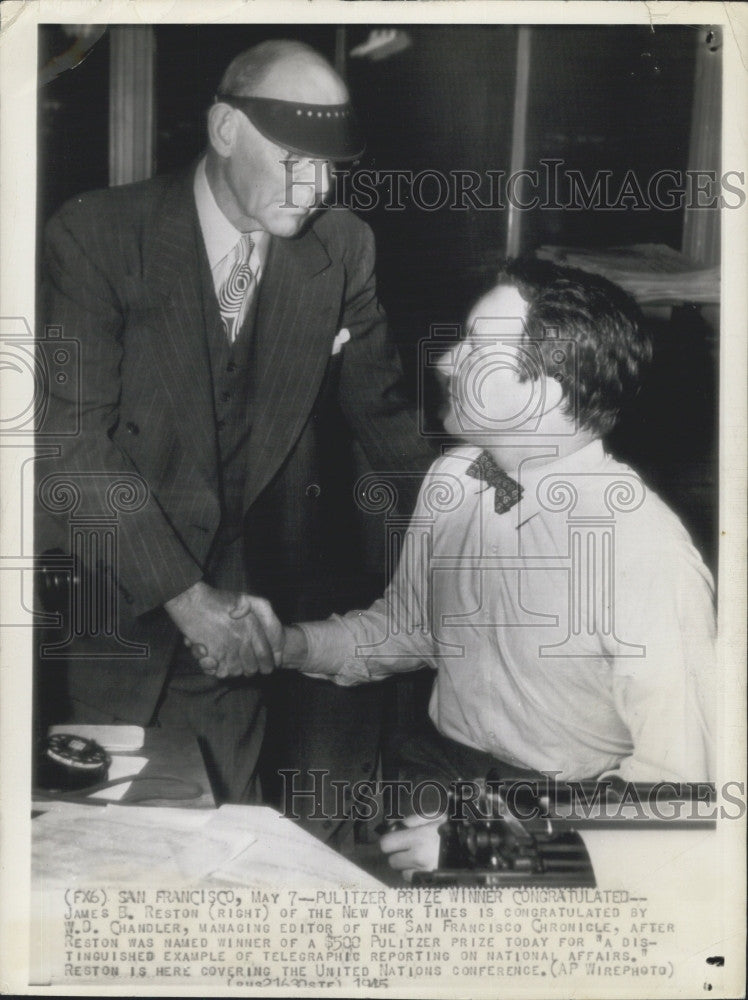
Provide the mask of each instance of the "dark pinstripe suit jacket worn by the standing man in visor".
{"label": "dark pinstripe suit jacket worn by the standing man in visor", "polygon": [[[45,234],[41,316],[77,342],[80,377],[52,384],[42,430],[57,454],[37,464],[37,546],[68,551],[76,525],[116,522],[116,552],[89,558],[111,580],[117,624],[65,645],[68,692],[141,724],[177,641],[162,605],[201,578],[221,516],[192,179],[82,195]],[[341,327],[350,342],[331,356]],[[364,223],[329,211],[300,237],[271,241],[254,344],[247,586],[286,618],[318,617],[330,610],[315,603],[325,405],[334,401],[374,468],[430,461],[401,391]],[[55,436],[76,420],[78,433]],[[60,477],[73,507],[58,502]]]}

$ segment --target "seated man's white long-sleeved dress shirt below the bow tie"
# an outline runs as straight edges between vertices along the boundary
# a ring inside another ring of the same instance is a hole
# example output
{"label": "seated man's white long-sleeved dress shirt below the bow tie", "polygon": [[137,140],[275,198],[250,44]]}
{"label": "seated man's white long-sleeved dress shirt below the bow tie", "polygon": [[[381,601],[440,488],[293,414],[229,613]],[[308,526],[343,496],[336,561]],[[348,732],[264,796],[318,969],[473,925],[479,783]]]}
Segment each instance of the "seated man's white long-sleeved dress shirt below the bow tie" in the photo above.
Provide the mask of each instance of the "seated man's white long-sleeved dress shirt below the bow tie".
{"label": "seated man's white long-sleeved dress shirt below the bow tie", "polygon": [[441,733],[562,780],[711,779],[713,584],[678,518],[599,441],[525,462],[497,514],[479,454],[431,467],[383,598],[302,626],[308,671],[428,664]]}

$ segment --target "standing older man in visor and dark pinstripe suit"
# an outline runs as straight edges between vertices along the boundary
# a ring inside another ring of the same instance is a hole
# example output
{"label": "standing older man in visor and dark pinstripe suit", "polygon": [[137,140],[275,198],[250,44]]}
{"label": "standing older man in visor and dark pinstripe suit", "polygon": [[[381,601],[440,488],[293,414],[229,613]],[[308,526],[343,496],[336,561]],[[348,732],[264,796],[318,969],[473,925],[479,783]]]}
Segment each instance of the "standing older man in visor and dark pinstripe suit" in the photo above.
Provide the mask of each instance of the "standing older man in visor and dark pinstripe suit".
{"label": "standing older man in visor and dark pinstripe suit", "polygon": [[[218,797],[248,801],[258,675],[281,641],[264,598],[285,619],[331,610],[322,432],[339,416],[383,472],[425,469],[429,454],[377,301],[372,234],[320,210],[331,163],[362,149],[340,77],[300,43],[259,45],[226,70],[208,138],[185,174],[81,195],[47,228],[42,320],[77,342],[80,378],[54,383],[42,427],[58,453],[39,462],[38,549],[72,551],[81,514],[114,515],[116,543],[78,553],[71,619],[100,620],[73,623],[64,660],[42,654],[39,685],[43,701],[65,670],[61,720],[189,726]],[[371,764],[363,705],[323,713],[356,734],[355,750],[333,741],[333,759],[313,756],[326,737],[306,703],[299,766]]]}

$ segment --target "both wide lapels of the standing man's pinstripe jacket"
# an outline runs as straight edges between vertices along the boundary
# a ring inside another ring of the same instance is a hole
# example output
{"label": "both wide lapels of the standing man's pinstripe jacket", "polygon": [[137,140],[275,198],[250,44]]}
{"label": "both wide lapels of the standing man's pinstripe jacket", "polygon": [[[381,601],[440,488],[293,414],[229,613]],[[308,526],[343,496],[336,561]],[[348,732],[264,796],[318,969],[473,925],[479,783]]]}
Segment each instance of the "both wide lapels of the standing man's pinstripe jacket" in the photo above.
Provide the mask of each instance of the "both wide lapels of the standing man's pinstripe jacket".
{"label": "both wide lapels of the standing man's pinstripe jacket", "polygon": [[[202,301],[207,262],[193,179],[194,169],[167,192],[144,274],[158,391],[195,465],[214,482],[218,449]],[[330,357],[342,286],[342,266],[331,262],[313,229],[297,239],[272,240],[253,335],[255,419],[245,509],[278,471],[307,420]]]}

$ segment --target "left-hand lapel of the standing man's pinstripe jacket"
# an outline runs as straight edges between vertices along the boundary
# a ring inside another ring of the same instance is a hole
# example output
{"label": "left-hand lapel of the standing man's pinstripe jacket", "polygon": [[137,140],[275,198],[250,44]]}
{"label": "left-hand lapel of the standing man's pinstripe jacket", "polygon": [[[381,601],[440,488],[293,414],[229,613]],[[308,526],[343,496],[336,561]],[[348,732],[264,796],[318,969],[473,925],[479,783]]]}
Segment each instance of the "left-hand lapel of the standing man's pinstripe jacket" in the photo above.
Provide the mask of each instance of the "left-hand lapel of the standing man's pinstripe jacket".
{"label": "left-hand lapel of the standing man's pinstripe jacket", "polygon": [[152,294],[154,373],[175,426],[197,467],[216,475],[217,446],[210,354],[202,301],[204,249],[193,194],[194,170],[168,191],[144,262]]}

